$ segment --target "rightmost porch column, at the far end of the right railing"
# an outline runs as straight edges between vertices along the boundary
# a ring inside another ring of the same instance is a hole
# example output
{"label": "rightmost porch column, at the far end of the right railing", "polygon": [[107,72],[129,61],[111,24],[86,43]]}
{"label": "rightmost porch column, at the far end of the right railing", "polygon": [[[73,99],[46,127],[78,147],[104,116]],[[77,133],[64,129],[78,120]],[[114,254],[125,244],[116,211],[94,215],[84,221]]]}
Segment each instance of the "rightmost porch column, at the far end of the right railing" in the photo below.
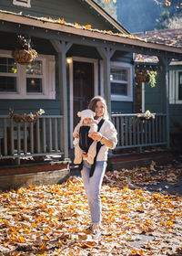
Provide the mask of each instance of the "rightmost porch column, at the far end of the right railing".
{"label": "rightmost porch column, at the far end of the right railing", "polygon": [[167,148],[170,147],[170,138],[169,138],[169,87],[168,87],[168,65],[171,59],[165,57],[158,57],[159,63],[162,67],[162,85],[164,94],[162,95],[163,106],[162,110],[167,114]]}

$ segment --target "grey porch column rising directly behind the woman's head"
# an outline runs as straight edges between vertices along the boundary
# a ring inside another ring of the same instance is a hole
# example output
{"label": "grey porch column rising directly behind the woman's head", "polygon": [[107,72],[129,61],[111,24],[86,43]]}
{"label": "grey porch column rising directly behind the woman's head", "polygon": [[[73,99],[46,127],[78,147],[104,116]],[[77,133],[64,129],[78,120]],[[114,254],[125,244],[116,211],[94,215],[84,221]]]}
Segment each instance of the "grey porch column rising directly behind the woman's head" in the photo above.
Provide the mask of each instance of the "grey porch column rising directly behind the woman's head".
{"label": "grey porch column rising directly behind the woman's head", "polygon": [[110,86],[110,59],[115,53],[113,48],[96,48],[104,61],[104,98],[108,107],[108,112],[111,114],[111,86]]}

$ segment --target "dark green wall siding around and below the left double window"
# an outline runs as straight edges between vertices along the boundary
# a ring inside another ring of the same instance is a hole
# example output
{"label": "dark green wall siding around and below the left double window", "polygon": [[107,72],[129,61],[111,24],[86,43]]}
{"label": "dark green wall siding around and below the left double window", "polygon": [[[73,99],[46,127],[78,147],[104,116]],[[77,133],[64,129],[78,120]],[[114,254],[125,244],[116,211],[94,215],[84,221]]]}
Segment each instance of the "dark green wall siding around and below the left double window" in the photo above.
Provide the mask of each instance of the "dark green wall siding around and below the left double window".
{"label": "dark green wall siding around and below the left double window", "polygon": [[[0,48],[12,50],[15,47],[16,35],[0,32]],[[13,43],[12,43],[13,42]],[[38,54],[56,55],[55,49],[48,40],[32,37],[33,46]],[[56,61],[57,63],[57,61]],[[9,108],[14,109],[15,113],[35,112],[44,109],[45,114],[60,114],[60,96],[58,85],[58,69],[56,64],[56,100],[3,100],[0,101],[0,114],[8,114]]]}

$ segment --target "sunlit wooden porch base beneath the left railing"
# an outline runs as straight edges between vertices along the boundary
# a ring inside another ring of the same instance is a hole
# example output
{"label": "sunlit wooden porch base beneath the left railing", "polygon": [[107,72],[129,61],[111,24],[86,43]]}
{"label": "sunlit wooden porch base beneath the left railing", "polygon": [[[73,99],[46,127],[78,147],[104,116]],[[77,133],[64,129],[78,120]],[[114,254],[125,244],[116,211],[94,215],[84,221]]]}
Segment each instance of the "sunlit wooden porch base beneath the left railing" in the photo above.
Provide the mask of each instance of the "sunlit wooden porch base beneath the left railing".
{"label": "sunlit wooden porch base beneath the left railing", "polygon": [[70,176],[69,162],[49,162],[0,168],[0,190],[29,185],[60,184]]}

